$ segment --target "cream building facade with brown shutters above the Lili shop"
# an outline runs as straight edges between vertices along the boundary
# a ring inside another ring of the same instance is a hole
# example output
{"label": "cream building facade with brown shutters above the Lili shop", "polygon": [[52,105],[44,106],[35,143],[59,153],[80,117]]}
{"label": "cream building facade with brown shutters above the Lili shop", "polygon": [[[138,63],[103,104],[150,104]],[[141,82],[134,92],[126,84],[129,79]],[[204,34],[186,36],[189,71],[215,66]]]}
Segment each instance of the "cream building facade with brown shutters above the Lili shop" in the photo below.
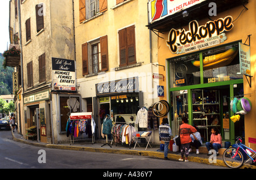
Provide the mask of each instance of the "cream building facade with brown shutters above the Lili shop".
{"label": "cream building facade with brown shutters above the Lili shop", "polygon": [[[139,109],[159,101],[159,80],[152,76],[158,74],[157,36],[146,27],[147,1],[74,2],[82,111],[93,112],[101,138],[105,114],[114,123],[121,117],[133,124]],[[152,131],[152,141],[159,142],[158,130]]]}

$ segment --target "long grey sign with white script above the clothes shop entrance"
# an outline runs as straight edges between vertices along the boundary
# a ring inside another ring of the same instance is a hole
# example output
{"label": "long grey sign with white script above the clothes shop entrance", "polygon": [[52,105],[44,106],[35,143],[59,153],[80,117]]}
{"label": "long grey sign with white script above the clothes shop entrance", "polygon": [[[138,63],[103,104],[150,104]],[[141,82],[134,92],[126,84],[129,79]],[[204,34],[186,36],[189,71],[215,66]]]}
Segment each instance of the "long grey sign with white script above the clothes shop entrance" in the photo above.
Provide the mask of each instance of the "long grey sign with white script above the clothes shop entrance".
{"label": "long grey sign with white script above the clothes shop entrance", "polygon": [[127,78],[112,82],[96,84],[96,95],[113,95],[115,93],[139,92],[139,78]]}

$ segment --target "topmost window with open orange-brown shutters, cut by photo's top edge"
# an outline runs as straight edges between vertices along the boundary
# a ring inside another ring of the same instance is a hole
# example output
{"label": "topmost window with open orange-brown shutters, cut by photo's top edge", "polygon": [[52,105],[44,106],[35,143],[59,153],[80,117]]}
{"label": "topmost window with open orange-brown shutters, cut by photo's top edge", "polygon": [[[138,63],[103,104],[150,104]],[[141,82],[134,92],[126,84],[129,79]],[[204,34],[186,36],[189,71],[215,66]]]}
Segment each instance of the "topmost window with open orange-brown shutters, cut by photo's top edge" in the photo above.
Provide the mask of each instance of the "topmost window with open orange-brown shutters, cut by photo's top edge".
{"label": "topmost window with open orange-brown shutters, cut by photo's top edge", "polygon": [[98,12],[108,9],[107,0],[79,0],[79,20],[82,23],[86,19],[93,18]]}

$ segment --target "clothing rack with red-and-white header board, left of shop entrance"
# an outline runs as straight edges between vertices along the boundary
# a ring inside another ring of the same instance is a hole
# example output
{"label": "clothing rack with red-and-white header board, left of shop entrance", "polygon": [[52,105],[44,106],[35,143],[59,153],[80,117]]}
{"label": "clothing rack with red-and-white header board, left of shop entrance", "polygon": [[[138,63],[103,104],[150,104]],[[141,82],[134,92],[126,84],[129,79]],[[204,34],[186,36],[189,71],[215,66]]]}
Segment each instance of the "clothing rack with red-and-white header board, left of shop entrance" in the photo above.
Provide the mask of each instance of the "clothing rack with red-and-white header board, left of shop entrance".
{"label": "clothing rack with red-and-white header board, left of shop entrance", "polygon": [[[70,117],[69,117],[70,121],[81,121],[84,119],[88,119],[89,121],[91,121],[91,126],[92,126],[92,144],[95,143],[95,136],[94,136],[94,128],[95,128],[95,122],[94,119],[92,117],[92,113],[91,112],[87,112],[87,113],[71,113]],[[74,143],[74,135],[70,136],[70,145],[72,144],[72,136],[73,136],[73,143]]]}

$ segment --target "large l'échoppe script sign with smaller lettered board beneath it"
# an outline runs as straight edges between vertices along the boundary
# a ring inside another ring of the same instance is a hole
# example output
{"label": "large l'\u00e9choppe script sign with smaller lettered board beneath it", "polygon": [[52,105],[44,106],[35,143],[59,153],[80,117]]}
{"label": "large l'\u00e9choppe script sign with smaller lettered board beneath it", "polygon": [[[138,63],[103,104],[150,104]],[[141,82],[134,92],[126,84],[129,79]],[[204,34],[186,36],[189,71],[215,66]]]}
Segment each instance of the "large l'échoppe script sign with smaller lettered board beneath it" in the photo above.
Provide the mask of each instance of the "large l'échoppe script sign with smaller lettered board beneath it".
{"label": "large l'\u00e9choppe script sign with smaller lettered board beneath it", "polygon": [[232,21],[232,16],[226,16],[201,26],[193,20],[189,23],[188,31],[172,28],[166,41],[167,46],[173,54],[182,54],[218,45],[227,39],[224,31],[234,27]]}

